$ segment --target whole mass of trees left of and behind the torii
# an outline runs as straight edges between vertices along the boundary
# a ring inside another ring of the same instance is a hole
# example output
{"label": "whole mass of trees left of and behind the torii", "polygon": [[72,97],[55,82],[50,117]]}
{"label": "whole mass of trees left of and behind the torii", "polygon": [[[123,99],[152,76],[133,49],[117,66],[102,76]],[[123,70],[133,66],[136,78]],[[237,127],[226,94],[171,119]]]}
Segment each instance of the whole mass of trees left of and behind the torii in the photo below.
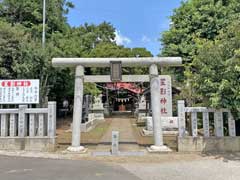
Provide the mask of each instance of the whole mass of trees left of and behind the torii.
{"label": "whole mass of trees left of and behind the torii", "polygon": [[[42,1],[0,1],[0,78],[40,79],[41,104],[47,97],[61,102],[73,96],[74,70],[53,68],[53,57],[152,56],[144,48],[118,46],[115,28],[108,22],[69,26],[66,14],[74,8],[70,1],[46,2],[46,46],[43,49]],[[100,73],[106,72],[103,69]],[[94,70],[86,69],[85,73],[92,74]],[[99,90],[95,84],[87,83],[84,92],[97,94]]]}

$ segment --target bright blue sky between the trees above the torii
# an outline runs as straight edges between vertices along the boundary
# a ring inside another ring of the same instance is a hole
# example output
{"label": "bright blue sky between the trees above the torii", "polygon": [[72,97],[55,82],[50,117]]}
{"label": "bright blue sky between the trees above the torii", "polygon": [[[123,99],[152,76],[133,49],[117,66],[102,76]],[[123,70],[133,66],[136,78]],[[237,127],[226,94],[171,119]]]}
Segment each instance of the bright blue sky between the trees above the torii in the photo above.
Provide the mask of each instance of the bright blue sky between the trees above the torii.
{"label": "bright blue sky between the trees above the torii", "polygon": [[68,15],[71,26],[103,21],[116,28],[117,43],[126,47],[145,47],[157,55],[161,32],[169,28],[169,16],[181,0],[71,0]]}

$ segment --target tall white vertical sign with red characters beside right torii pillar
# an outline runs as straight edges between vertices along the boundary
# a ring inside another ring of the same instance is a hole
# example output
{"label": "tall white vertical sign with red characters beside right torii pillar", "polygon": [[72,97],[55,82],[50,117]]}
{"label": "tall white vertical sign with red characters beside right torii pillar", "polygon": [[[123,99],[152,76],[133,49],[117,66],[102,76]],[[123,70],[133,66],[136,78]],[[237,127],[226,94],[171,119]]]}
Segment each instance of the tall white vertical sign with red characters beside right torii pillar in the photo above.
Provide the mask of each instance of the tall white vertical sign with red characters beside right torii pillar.
{"label": "tall white vertical sign with red characters beside right torii pillar", "polygon": [[160,78],[160,104],[161,116],[172,117],[172,82],[171,76],[161,75]]}

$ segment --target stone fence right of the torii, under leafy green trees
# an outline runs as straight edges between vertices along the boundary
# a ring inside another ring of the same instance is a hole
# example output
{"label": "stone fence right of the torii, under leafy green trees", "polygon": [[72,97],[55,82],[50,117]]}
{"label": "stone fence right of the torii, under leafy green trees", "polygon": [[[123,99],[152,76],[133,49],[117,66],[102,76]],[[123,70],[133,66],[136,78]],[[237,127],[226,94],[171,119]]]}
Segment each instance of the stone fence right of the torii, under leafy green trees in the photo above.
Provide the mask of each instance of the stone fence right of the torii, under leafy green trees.
{"label": "stone fence right of the torii, under leafy green trees", "polygon": [[[198,129],[198,114],[201,113],[202,133]],[[210,123],[212,113],[213,123]],[[224,121],[224,114],[227,120]],[[190,128],[186,131],[187,116]],[[178,101],[179,151],[240,151],[240,138],[236,137],[235,120],[227,109],[185,107]],[[226,125],[227,124],[227,125]],[[212,134],[210,133],[212,127]]]}

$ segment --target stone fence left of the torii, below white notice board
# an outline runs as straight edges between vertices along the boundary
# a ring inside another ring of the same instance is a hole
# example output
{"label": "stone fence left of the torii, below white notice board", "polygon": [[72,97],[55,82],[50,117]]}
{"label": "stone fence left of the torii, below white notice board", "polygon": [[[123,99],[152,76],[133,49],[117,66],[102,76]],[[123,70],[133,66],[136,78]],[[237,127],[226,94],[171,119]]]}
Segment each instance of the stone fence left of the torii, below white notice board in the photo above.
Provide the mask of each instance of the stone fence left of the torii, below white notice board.
{"label": "stone fence left of the torii, below white notice board", "polygon": [[56,102],[47,108],[0,109],[0,149],[53,151],[56,136]]}

